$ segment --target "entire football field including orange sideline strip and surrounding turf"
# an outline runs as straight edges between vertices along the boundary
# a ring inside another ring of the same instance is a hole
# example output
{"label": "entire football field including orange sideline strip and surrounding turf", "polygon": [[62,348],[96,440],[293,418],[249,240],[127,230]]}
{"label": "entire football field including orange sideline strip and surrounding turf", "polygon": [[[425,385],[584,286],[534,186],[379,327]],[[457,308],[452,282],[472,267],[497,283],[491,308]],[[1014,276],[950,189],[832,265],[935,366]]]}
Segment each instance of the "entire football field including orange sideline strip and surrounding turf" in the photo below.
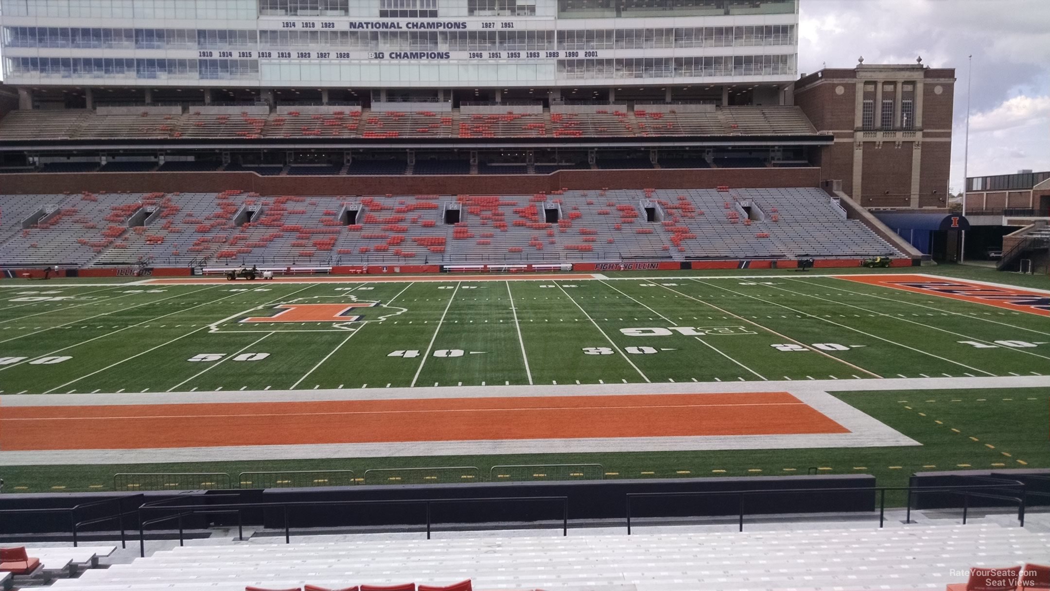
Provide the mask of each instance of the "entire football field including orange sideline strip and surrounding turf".
{"label": "entire football field including orange sideline strip and surrounding turf", "polygon": [[1050,295],[944,275],[0,283],[8,492],[122,471],[1048,467],[1048,392]]}

